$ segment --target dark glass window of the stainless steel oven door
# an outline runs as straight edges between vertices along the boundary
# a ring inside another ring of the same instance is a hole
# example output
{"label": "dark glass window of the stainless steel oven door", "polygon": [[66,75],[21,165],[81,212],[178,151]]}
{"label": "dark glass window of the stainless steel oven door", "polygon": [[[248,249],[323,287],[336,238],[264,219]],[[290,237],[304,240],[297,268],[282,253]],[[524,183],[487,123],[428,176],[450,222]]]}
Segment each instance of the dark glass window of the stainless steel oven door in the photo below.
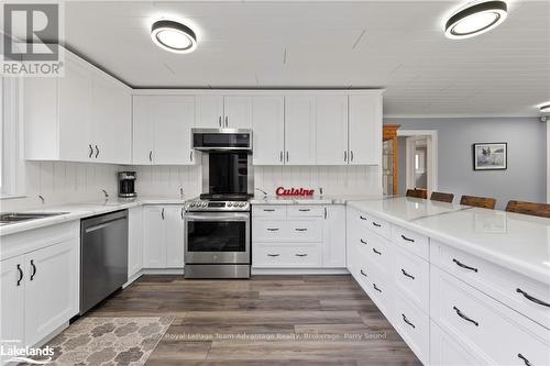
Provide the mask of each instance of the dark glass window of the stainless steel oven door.
{"label": "dark glass window of the stainless steel oven door", "polygon": [[246,222],[189,221],[189,252],[246,252]]}

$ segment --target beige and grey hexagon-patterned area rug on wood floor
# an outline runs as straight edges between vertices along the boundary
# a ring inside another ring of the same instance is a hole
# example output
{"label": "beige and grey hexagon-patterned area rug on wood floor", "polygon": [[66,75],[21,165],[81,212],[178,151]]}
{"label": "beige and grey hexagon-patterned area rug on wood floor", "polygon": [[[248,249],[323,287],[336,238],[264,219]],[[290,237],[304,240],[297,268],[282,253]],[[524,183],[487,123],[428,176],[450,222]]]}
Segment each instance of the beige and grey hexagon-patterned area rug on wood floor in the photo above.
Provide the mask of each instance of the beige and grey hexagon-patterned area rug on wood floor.
{"label": "beige and grey hexagon-patterned area rug on wood floor", "polygon": [[174,318],[81,318],[47,345],[56,366],[141,366]]}

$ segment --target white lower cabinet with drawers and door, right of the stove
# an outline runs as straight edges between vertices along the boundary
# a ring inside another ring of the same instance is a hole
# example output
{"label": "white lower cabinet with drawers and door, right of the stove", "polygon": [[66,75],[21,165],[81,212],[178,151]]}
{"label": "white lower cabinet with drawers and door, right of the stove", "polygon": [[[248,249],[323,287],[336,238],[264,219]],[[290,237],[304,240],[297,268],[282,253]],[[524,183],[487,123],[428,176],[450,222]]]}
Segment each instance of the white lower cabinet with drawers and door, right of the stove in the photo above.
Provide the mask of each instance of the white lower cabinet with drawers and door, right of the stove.
{"label": "white lower cabinet with drawers and door, right of the stove", "polygon": [[254,206],[252,266],[344,268],[345,207]]}

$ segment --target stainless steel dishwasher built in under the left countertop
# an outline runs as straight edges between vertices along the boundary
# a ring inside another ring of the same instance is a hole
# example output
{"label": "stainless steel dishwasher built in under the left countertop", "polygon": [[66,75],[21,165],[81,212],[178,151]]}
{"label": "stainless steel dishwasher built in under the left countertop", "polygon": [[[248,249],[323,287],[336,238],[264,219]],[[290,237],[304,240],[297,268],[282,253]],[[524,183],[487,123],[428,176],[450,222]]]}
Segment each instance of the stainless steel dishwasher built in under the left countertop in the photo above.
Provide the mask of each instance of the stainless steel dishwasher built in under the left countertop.
{"label": "stainless steel dishwasher built in under the left countertop", "polygon": [[128,280],[128,210],[80,221],[80,315]]}

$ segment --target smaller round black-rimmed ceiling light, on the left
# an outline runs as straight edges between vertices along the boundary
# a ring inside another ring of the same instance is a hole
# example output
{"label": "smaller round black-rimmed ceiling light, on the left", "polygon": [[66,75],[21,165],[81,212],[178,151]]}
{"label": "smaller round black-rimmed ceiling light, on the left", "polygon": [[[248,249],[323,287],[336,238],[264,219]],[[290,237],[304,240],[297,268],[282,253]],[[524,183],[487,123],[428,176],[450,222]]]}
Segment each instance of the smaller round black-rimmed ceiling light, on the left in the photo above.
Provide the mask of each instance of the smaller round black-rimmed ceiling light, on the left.
{"label": "smaller round black-rimmed ceiling light, on the left", "polygon": [[151,26],[151,38],[161,48],[178,54],[188,54],[197,48],[197,35],[182,23],[160,20]]}

